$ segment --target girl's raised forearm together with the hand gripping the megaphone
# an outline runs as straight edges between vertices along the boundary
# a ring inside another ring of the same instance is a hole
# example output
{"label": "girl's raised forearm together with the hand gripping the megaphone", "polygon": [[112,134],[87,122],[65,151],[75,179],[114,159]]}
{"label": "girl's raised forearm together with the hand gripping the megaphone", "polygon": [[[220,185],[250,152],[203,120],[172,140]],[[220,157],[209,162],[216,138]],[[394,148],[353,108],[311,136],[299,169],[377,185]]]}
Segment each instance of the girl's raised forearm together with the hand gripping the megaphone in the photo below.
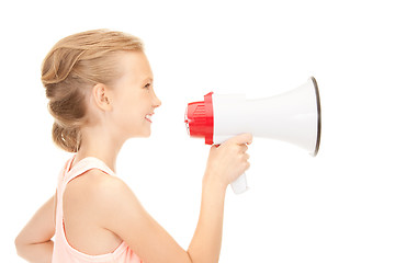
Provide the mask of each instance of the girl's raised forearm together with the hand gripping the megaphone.
{"label": "girl's raised forearm together with the hand gripping the megaphone", "polygon": [[211,148],[203,178],[199,222],[188,249],[193,262],[219,260],[226,186],[249,168],[245,144],[251,142],[252,137],[244,134]]}

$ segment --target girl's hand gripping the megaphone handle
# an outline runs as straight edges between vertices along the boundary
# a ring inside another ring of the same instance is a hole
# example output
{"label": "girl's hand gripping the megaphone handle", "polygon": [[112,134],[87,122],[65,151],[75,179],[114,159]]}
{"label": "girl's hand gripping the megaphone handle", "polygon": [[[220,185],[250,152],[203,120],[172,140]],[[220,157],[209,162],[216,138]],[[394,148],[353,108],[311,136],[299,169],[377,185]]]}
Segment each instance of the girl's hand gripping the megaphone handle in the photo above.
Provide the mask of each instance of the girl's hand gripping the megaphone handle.
{"label": "girl's hand gripping the megaphone handle", "polygon": [[251,142],[252,135],[241,134],[212,146],[203,181],[215,181],[226,188],[250,167],[246,151]]}

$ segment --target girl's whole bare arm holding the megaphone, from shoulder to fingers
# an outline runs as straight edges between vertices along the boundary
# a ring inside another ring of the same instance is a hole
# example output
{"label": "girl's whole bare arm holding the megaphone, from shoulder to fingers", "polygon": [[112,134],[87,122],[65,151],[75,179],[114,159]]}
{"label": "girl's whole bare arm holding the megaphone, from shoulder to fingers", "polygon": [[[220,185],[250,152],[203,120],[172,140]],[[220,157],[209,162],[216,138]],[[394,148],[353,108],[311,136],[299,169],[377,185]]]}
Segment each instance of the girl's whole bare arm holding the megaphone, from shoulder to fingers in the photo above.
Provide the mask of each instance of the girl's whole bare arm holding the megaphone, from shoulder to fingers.
{"label": "girl's whole bare arm holding the megaphone, from shoulder to fingers", "polygon": [[98,210],[103,211],[102,227],[121,237],[145,263],[218,262],[226,186],[249,167],[245,145],[250,142],[249,138],[238,137],[218,148],[212,147],[203,179],[200,218],[188,251],[150,217],[122,181],[100,190],[105,195],[98,204],[101,206]]}

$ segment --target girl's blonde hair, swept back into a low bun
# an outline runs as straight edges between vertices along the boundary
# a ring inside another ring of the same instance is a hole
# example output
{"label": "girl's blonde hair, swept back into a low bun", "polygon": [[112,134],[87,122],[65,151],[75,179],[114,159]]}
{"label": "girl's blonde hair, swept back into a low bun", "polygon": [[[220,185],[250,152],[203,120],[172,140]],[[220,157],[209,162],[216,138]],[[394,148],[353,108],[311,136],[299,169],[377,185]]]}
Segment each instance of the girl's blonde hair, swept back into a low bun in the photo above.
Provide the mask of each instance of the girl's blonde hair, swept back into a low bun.
{"label": "girl's blonde hair, swept back into a low bun", "polygon": [[57,146],[70,152],[79,150],[80,128],[87,122],[87,88],[111,84],[120,77],[116,54],[143,49],[139,38],[109,30],[77,33],[55,44],[43,61],[42,82],[55,118],[53,139]]}

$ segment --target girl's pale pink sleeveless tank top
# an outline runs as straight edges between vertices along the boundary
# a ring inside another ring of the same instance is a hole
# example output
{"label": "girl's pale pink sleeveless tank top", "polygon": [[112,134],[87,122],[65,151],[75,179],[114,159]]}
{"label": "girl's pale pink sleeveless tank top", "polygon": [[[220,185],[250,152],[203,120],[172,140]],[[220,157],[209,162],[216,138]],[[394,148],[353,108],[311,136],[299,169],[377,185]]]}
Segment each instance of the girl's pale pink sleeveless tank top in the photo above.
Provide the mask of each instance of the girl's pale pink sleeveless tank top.
{"label": "girl's pale pink sleeveless tank top", "polygon": [[88,255],[74,249],[66,239],[64,220],[63,220],[63,195],[66,185],[75,178],[91,170],[99,169],[110,175],[115,175],[114,172],[105,165],[101,160],[88,157],[79,161],[72,169],[70,169],[72,160],[67,161],[59,174],[57,186],[57,208],[56,208],[56,230],[53,252],[53,263],[142,263],[139,258],[131,250],[131,248],[122,242],[114,252],[100,255]]}

